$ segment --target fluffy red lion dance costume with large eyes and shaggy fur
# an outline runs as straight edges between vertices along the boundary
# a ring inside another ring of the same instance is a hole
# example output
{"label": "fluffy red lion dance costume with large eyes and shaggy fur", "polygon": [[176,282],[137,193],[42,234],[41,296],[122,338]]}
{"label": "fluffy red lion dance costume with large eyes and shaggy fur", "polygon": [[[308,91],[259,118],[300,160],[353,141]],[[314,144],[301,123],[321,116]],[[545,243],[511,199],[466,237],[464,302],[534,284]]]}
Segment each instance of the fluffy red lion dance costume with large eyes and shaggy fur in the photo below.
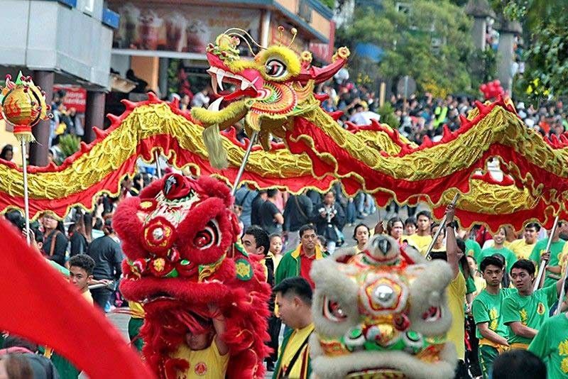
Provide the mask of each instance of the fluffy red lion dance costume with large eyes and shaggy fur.
{"label": "fluffy red lion dance costume with large eyes and shaggy fur", "polygon": [[114,216],[128,257],[121,291],[144,306],[142,353],[162,378],[175,377],[180,362],[170,354],[188,331],[202,332],[209,304],[226,319],[227,377],[263,377],[271,289],[257,259],[234,245],[232,202],[219,180],[172,174],[124,200]]}

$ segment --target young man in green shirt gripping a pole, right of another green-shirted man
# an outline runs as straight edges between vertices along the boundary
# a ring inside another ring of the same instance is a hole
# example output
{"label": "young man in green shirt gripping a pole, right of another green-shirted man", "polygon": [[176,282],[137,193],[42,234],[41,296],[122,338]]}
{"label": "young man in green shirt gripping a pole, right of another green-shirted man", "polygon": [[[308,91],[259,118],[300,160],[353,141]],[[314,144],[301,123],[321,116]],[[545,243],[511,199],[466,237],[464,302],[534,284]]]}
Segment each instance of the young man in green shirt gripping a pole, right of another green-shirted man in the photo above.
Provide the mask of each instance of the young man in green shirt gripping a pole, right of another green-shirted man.
{"label": "young man in green shirt gripping a pole, right of another green-shirted man", "polygon": [[533,291],[535,264],[527,259],[517,260],[510,270],[510,276],[517,291],[503,301],[503,323],[509,326],[508,342],[511,348],[526,350],[540,326],[548,319],[550,307],[558,299],[562,280],[558,280],[556,285]]}

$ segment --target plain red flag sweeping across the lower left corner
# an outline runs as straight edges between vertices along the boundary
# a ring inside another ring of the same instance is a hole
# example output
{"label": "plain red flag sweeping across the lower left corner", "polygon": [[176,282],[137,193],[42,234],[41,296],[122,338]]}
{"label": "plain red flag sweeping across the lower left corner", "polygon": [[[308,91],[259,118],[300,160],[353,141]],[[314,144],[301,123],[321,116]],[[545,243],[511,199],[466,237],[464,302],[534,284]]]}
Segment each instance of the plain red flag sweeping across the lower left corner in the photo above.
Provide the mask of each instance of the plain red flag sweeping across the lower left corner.
{"label": "plain red flag sweeping across the lower left corner", "polygon": [[155,378],[102,312],[0,219],[0,330],[50,346],[92,379]]}

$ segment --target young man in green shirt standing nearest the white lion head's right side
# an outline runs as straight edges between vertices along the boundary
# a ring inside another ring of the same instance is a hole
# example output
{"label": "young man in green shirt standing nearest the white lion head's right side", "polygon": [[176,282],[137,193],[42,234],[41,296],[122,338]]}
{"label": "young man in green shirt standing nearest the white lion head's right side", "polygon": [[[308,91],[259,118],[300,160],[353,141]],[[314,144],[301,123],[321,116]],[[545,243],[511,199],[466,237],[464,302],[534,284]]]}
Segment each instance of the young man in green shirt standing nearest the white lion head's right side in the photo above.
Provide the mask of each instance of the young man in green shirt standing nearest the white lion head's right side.
{"label": "young man in green shirt standing nearest the white lion head's right side", "polygon": [[511,288],[501,290],[503,267],[503,262],[496,257],[486,257],[481,261],[481,273],[486,287],[479,292],[471,307],[477,326],[476,337],[479,339],[479,366],[484,379],[489,378],[495,358],[509,346],[508,330],[503,324],[501,304],[514,290]]}

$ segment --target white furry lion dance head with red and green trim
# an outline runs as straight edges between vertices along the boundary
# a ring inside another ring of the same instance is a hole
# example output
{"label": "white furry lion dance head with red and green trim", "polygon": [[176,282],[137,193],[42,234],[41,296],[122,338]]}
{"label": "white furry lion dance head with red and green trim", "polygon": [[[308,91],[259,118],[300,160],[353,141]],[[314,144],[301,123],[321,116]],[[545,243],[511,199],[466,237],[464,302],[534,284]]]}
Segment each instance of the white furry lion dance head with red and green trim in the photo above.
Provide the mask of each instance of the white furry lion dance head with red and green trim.
{"label": "white furry lion dance head with red and green trim", "polygon": [[408,264],[393,238],[377,235],[346,263],[314,262],[311,275],[317,378],[452,378],[447,263]]}

